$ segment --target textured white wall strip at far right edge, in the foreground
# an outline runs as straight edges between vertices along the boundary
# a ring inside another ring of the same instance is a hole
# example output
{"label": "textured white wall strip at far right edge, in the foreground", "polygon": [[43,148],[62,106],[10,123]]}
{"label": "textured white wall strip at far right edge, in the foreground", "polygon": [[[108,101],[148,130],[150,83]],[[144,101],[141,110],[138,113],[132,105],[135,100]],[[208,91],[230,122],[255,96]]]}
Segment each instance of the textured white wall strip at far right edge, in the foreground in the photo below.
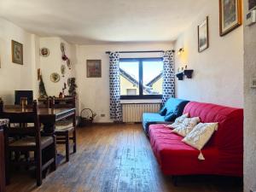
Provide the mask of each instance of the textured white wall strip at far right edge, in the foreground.
{"label": "textured white wall strip at far right edge, in the foreground", "polygon": [[256,24],[244,26],[244,192],[256,190],[256,90],[250,88],[251,79],[256,78],[255,37]]}

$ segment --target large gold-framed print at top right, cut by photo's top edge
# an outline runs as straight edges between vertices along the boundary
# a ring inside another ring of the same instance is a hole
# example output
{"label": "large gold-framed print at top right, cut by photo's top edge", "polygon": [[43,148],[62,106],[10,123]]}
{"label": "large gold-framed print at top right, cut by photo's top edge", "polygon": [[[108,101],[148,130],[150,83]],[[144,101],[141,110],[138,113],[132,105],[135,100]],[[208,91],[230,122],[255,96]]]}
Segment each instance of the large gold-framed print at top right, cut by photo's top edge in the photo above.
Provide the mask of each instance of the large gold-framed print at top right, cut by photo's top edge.
{"label": "large gold-framed print at top right, cut by photo's top edge", "polygon": [[219,0],[219,35],[241,26],[241,0]]}

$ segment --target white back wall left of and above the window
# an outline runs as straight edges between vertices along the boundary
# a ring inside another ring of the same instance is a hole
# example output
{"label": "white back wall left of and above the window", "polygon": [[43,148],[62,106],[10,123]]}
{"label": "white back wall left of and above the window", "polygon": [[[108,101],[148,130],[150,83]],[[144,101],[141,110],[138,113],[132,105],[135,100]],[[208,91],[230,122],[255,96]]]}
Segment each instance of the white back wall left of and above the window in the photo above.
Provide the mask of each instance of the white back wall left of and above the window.
{"label": "white back wall left of and above the window", "polygon": [[[76,77],[79,90],[79,110],[91,108],[97,113],[96,122],[111,122],[109,119],[109,59],[105,51],[173,49],[166,44],[102,44],[77,46]],[[122,57],[156,56],[155,54],[120,55]],[[86,60],[102,60],[102,78],[86,78]],[[105,117],[100,117],[104,113]]]}

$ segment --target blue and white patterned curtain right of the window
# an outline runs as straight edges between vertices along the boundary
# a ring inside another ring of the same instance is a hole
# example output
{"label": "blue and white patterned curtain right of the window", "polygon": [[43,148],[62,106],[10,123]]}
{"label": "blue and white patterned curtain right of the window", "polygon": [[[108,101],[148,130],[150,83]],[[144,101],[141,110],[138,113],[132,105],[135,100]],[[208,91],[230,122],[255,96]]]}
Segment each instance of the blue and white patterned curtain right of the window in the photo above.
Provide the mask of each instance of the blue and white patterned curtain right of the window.
{"label": "blue and white patterned curtain right of the window", "polygon": [[163,97],[162,104],[175,97],[175,72],[174,72],[174,60],[172,50],[167,50],[163,53]]}

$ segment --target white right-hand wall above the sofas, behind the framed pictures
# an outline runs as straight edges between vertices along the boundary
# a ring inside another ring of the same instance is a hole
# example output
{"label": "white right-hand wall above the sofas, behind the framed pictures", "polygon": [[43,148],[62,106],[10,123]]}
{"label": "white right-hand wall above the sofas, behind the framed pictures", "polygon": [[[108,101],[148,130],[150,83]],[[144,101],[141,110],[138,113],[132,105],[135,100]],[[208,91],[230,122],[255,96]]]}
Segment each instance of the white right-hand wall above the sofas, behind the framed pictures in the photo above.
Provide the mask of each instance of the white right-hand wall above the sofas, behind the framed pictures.
{"label": "white right-hand wall above the sofas, behind the framed pictures", "polygon": [[[197,25],[209,16],[210,47],[198,53]],[[193,79],[177,81],[177,97],[198,102],[212,102],[243,107],[243,28],[240,26],[223,38],[218,31],[218,0],[208,1],[197,19],[177,38],[176,69],[188,65]]]}

